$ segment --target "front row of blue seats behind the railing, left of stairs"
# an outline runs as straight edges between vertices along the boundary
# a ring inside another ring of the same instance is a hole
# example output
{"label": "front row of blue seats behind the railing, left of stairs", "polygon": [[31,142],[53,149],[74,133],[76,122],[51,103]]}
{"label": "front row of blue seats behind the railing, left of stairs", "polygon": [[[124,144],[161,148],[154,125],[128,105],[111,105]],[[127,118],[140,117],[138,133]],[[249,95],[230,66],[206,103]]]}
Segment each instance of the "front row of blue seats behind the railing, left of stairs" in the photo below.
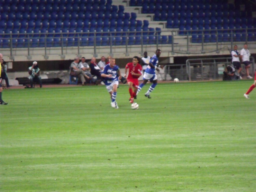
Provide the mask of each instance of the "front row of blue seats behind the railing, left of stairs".
{"label": "front row of blue seats behind the railing, left of stairs", "polygon": [[[68,36],[68,37],[57,37],[47,35],[46,37],[31,37],[22,38],[16,37],[12,38],[12,47],[60,47],[60,46],[96,46],[101,45],[133,45],[133,44],[167,44],[171,43],[172,37],[169,36],[141,36],[139,35],[125,35],[123,33],[115,34],[115,36],[105,36],[104,34],[99,36]],[[3,48],[9,48],[11,45],[10,38],[1,38],[0,46]]]}

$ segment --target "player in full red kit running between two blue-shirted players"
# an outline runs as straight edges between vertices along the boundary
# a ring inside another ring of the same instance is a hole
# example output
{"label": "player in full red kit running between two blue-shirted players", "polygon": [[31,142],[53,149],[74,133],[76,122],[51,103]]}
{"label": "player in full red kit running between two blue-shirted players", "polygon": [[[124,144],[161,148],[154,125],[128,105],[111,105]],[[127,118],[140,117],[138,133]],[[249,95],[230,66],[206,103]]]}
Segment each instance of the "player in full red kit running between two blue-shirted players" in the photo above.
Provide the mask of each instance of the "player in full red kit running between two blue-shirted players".
{"label": "player in full red kit running between two blue-shirted players", "polygon": [[[127,82],[129,85],[129,93],[131,95],[130,98],[130,103],[133,103],[134,98],[136,99],[136,93],[138,90],[138,86],[139,86],[139,80],[138,78],[142,75],[141,71],[142,71],[142,67],[139,64],[139,60],[140,58],[137,56],[134,56],[132,58],[132,62],[131,63],[127,63],[125,66],[125,74],[124,77],[126,77],[127,75],[127,69],[129,69],[129,74],[127,77]],[[132,91],[132,87],[133,87],[133,91]]]}

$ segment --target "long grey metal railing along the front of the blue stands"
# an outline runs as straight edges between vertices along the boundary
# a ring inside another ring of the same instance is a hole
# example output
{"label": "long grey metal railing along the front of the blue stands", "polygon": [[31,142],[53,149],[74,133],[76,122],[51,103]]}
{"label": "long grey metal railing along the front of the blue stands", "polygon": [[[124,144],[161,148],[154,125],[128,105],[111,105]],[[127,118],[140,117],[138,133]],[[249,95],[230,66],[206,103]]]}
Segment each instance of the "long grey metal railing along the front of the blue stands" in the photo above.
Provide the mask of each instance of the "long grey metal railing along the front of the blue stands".
{"label": "long grey metal railing along the front of the blue stands", "polygon": [[[141,52],[144,47],[154,44],[158,46],[170,46],[168,49],[172,54],[175,53],[193,53],[199,52],[218,52],[223,48],[223,43],[233,47],[234,42],[256,41],[256,29],[214,29],[214,30],[170,30],[170,35],[161,35],[160,30],[151,31],[99,31],[99,32],[74,32],[74,33],[8,33],[0,34],[1,48],[10,49],[10,55],[13,51],[27,49],[30,55],[30,49],[46,48],[58,49],[63,55],[63,50],[73,49],[79,54],[81,49],[94,50],[107,46],[109,53],[113,53],[113,48],[122,46],[129,55],[134,45],[140,47]],[[163,34],[163,33],[162,33]],[[166,34],[166,32],[165,32]],[[252,44],[252,46],[254,46]],[[196,47],[196,49],[195,49]],[[17,52],[15,54],[18,54]]]}

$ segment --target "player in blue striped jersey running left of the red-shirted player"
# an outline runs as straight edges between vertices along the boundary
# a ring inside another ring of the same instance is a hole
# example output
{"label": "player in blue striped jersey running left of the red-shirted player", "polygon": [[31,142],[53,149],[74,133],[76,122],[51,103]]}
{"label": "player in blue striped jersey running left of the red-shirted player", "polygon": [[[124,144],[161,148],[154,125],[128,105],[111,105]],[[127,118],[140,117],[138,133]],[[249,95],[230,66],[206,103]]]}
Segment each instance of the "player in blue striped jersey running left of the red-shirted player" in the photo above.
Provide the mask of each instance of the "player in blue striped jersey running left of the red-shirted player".
{"label": "player in blue striped jersey running left of the red-shirted player", "polygon": [[[119,75],[118,77],[117,74]],[[101,72],[101,76],[104,78],[104,83],[110,94],[111,107],[118,109],[116,94],[118,80],[121,79],[121,73],[119,67],[116,65],[116,60],[114,58],[109,59],[109,64],[105,66],[105,68]]]}

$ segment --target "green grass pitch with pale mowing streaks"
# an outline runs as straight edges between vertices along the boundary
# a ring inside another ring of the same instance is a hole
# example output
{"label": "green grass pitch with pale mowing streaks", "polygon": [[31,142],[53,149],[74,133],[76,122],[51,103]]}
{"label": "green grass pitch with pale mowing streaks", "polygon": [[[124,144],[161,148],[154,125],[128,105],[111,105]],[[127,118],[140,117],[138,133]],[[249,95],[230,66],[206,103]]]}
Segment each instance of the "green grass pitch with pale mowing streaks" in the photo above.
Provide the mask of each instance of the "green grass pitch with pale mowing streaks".
{"label": "green grass pitch with pale mowing streaks", "polygon": [[10,89],[0,106],[1,192],[254,192],[253,81]]}

